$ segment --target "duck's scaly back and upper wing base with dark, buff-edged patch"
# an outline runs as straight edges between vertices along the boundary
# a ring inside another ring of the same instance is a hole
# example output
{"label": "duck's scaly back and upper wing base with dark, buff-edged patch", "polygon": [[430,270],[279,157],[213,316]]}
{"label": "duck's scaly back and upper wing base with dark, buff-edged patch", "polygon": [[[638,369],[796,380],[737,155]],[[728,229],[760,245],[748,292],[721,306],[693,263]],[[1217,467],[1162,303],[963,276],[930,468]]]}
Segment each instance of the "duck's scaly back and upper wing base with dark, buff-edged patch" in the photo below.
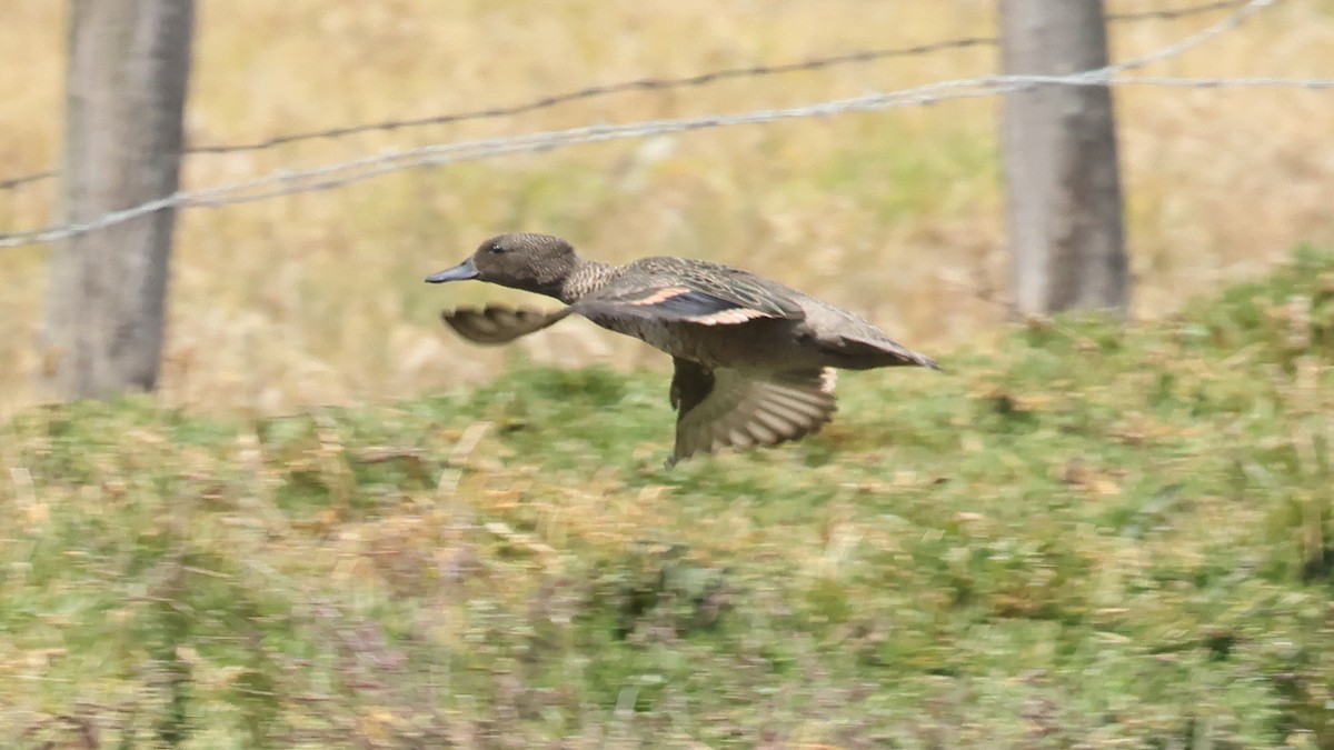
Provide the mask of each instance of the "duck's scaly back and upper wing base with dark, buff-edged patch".
{"label": "duck's scaly back and upper wing base with dark, buff-edged patch", "polygon": [[756,318],[800,320],[806,311],[792,290],[754,274],[679,258],[646,258],[604,287],[579,298],[574,308],[594,320],[651,318],[724,326]]}

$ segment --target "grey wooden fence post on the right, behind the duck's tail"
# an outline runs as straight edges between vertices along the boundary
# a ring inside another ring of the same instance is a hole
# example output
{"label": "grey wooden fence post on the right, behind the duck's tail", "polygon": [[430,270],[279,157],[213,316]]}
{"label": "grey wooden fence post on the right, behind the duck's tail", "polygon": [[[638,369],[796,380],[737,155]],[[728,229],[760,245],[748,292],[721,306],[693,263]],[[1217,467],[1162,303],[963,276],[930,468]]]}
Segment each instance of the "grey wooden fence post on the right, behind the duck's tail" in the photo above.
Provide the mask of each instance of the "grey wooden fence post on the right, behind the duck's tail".
{"label": "grey wooden fence post on the right, behind the duck's tail", "polygon": [[[1107,64],[1102,0],[1002,0],[1007,73],[1070,75]],[[1022,314],[1129,304],[1110,87],[1039,84],[1006,95],[1014,302]]]}

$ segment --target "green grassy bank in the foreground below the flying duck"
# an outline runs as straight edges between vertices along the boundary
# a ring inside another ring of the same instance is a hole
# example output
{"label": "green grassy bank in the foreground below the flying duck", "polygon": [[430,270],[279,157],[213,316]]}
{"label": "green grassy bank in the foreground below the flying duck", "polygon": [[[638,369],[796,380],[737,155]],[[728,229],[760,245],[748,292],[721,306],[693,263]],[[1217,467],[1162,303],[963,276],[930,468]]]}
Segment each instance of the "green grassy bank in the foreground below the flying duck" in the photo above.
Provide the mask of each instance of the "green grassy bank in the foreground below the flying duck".
{"label": "green grassy bank in the foreground below the flying duck", "polygon": [[0,743],[1334,745],[1334,256],[994,348],[671,471],[596,367],[24,412]]}

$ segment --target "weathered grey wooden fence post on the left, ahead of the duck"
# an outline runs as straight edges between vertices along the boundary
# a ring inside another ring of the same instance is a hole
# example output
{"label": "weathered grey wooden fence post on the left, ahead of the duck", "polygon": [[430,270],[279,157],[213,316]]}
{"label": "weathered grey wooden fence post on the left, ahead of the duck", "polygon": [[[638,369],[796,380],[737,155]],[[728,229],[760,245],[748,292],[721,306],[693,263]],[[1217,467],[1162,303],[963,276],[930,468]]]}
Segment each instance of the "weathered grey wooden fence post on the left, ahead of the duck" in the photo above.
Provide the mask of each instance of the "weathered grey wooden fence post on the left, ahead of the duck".
{"label": "weathered grey wooden fence post on the left, ahead of the duck", "polygon": [[[63,214],[87,222],[176,192],[193,0],[72,0]],[[176,212],[52,248],[48,384],[68,398],[152,390]]]}

